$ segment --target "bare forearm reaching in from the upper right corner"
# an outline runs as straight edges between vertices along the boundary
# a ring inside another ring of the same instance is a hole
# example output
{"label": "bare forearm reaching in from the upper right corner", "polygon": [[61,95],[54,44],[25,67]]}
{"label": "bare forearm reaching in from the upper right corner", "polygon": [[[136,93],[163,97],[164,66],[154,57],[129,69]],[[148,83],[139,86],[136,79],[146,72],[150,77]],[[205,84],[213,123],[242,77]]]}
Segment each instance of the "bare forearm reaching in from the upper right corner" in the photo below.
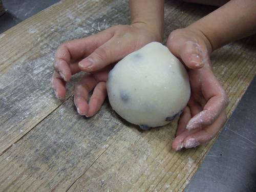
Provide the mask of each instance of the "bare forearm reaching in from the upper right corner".
{"label": "bare forearm reaching in from the upper right corner", "polygon": [[212,51],[256,33],[256,2],[232,0],[189,27],[199,29]]}

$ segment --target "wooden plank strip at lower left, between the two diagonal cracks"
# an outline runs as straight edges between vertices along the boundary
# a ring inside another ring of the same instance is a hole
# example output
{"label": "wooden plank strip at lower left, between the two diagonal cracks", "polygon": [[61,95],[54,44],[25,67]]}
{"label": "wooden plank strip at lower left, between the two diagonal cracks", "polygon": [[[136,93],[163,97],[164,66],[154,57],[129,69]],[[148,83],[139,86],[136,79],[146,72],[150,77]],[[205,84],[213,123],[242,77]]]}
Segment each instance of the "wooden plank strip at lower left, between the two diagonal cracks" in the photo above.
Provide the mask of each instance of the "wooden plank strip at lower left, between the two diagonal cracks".
{"label": "wooden plank strip at lower left, between the two diagonal cracks", "polygon": [[64,102],[0,157],[0,190],[67,190],[121,131],[106,108],[95,122],[77,114],[73,97]]}

